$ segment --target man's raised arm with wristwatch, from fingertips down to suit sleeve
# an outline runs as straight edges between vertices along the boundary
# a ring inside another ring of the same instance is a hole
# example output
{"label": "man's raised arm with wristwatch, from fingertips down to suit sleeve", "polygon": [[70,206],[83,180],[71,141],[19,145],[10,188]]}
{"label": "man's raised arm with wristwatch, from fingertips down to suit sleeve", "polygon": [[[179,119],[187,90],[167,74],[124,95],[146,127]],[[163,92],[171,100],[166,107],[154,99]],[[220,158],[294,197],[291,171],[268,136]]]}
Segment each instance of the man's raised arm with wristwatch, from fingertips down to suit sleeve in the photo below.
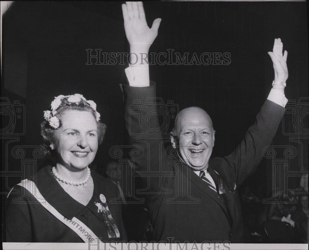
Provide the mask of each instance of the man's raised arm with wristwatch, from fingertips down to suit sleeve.
{"label": "man's raised arm with wristwatch, from fingertips down to suit sleeve", "polygon": [[275,80],[266,102],[256,116],[256,122],[248,129],[242,142],[228,156],[224,157],[228,167],[235,173],[237,185],[254,171],[263,158],[263,149],[272,143],[281,122],[283,107],[287,99],[284,88],[288,78],[287,51],[282,53],[281,39],[275,39],[273,52],[268,52],[273,61]]}

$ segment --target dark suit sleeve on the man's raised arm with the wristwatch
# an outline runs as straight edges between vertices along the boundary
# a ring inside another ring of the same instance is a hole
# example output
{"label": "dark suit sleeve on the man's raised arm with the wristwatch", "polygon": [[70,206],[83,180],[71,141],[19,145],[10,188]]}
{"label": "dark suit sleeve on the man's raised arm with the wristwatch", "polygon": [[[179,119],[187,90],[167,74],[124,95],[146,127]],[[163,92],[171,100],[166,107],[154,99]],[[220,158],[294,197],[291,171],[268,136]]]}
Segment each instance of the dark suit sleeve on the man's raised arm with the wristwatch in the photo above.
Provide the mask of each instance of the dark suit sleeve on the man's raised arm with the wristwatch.
{"label": "dark suit sleeve on the man's raised arm with the wristwatch", "polygon": [[283,112],[282,106],[266,100],[244,139],[230,155],[224,157],[228,167],[235,174],[237,185],[241,185],[260,164],[263,150],[272,143]]}

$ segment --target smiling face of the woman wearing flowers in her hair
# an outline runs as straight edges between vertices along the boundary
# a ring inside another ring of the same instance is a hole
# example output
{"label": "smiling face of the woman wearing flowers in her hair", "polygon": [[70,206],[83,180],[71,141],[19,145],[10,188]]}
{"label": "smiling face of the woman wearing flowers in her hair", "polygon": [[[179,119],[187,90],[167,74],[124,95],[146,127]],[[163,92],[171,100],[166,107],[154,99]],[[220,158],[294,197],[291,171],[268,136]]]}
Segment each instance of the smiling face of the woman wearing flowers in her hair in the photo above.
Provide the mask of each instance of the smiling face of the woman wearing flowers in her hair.
{"label": "smiling face of the woman wearing flowers in her hair", "polygon": [[98,150],[98,125],[89,111],[66,110],[55,133],[57,163],[71,171],[86,168]]}

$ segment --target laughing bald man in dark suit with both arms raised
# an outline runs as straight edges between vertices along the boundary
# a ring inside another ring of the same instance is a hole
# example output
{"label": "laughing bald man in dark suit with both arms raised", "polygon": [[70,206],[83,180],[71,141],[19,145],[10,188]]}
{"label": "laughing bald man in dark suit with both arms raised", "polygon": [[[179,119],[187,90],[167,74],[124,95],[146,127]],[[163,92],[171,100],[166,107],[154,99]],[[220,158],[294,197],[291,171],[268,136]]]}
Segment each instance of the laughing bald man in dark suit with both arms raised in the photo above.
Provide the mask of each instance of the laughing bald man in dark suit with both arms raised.
{"label": "laughing bald man in dark suit with both arms raised", "polygon": [[[122,10],[131,55],[147,55],[161,19],[156,19],[149,28],[142,2],[126,2]],[[282,118],[288,77],[287,52],[282,53],[282,46],[281,40],[275,39],[273,52],[268,52],[275,79],[256,122],[230,155],[215,158],[210,158],[215,131],[209,115],[199,107],[186,108],[176,118],[170,140],[177,154],[167,155],[170,150],[164,149],[162,137],[149,134],[160,128],[158,116],[145,111],[149,107],[147,98],[156,97],[155,83],[149,81],[149,66],[141,56],[132,58],[134,62],[138,60],[125,69],[129,81],[129,85],[123,85],[125,122],[129,144],[142,148],[143,153],[134,159],[134,169],[144,176],[145,172],[151,172],[144,179],[147,188],[142,192],[148,204],[154,240],[243,242],[237,187],[256,170],[263,149],[271,144]],[[140,112],[130,110],[136,100],[142,100]]]}

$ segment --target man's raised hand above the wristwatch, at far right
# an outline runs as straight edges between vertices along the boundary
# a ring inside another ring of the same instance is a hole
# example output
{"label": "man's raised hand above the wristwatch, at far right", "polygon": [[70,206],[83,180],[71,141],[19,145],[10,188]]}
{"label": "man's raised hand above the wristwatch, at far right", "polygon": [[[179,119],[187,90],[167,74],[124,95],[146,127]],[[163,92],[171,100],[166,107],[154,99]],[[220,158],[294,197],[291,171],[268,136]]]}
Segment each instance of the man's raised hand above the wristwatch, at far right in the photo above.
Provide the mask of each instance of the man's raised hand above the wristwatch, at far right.
{"label": "man's raised hand above the wristwatch, at far right", "polygon": [[275,71],[275,81],[286,82],[289,73],[286,66],[286,58],[288,52],[285,50],[282,54],[283,44],[280,38],[276,38],[273,44],[273,52],[268,52],[271,60],[273,61],[273,69]]}

